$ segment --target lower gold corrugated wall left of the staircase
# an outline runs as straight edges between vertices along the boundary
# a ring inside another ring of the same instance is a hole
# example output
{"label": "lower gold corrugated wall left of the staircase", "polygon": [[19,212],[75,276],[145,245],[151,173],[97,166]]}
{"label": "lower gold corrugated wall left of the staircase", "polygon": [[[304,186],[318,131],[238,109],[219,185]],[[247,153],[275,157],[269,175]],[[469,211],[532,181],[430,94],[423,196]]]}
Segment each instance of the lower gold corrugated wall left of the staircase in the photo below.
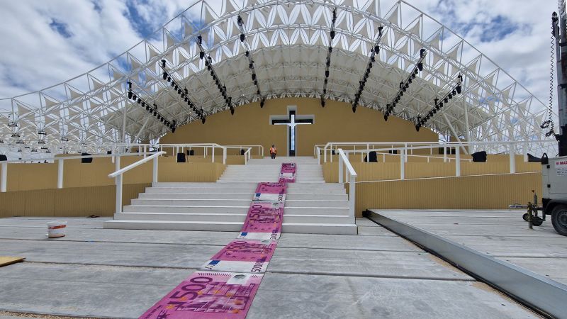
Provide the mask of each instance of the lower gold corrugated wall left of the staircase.
{"label": "lower gold corrugated wall left of the staircase", "polygon": [[[148,186],[149,183],[123,185],[123,205],[130,205]],[[13,191],[0,193],[0,217],[113,216],[115,203],[113,185]]]}

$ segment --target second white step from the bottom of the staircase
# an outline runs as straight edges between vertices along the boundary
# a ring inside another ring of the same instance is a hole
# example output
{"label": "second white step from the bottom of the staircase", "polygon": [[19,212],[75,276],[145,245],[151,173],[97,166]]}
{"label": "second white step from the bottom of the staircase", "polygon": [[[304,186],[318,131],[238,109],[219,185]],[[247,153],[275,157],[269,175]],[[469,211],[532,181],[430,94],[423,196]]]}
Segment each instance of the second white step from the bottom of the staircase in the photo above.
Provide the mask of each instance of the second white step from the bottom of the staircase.
{"label": "second white step from the bottom of the staircase", "polygon": [[[114,216],[115,220],[169,220],[169,221],[218,221],[235,222],[242,225],[246,220],[246,214],[208,214],[208,213],[119,213]],[[344,215],[293,215],[284,214],[283,223],[322,223],[340,224],[348,223],[349,216]]]}

